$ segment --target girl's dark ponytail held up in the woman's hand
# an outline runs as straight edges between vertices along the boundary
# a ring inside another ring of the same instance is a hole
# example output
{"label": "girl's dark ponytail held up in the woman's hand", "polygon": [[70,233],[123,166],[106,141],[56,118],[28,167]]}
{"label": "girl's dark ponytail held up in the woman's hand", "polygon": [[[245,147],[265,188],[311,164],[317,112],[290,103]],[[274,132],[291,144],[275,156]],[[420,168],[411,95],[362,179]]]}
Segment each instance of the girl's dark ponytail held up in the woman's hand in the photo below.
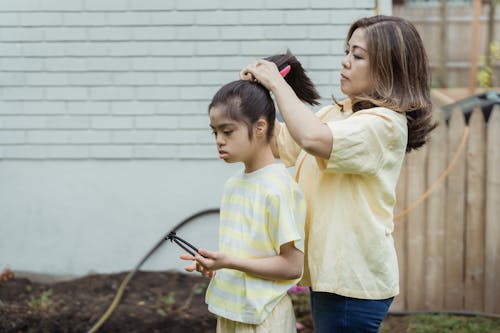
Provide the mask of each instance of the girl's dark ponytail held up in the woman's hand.
{"label": "girl's dark ponytail held up in the woman's hand", "polygon": [[285,81],[293,89],[297,97],[304,103],[310,105],[319,105],[317,101],[321,98],[318,91],[314,87],[305,69],[297,58],[287,50],[285,54],[277,54],[265,58],[265,60],[274,62],[280,70],[283,70],[287,65],[290,66],[290,72],[285,75]]}

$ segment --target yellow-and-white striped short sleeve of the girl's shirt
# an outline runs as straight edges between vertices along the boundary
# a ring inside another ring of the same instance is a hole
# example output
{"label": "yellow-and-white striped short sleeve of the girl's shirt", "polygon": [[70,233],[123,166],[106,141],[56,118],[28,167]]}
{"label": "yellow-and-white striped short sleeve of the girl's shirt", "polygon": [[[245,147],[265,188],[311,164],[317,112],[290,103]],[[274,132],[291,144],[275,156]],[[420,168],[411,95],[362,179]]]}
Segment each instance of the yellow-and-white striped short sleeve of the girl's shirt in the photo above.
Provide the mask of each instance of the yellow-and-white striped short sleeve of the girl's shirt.
{"label": "yellow-and-white striped short sleeve of the girl's shirt", "polygon": [[279,253],[281,245],[294,241],[295,247],[303,252],[306,204],[302,192],[291,189],[288,195],[274,194],[268,199],[273,207],[268,216],[268,232],[274,250]]}

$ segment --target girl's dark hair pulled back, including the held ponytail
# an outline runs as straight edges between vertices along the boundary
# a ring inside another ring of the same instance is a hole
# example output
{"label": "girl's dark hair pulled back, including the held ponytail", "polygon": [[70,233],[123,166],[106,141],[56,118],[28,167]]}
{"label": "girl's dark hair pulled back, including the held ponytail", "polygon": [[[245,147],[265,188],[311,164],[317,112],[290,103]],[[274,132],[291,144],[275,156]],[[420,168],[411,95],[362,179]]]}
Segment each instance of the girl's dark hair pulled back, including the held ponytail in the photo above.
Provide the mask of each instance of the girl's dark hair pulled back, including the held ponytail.
{"label": "girl's dark hair pulled back, including the held ponytail", "polygon": [[[274,62],[279,69],[290,65],[290,72],[285,76],[286,82],[292,87],[303,102],[316,105],[320,98],[314,84],[306,71],[289,51],[266,58]],[[217,91],[208,106],[208,112],[213,107],[220,108],[228,117],[244,122],[248,127],[248,137],[252,138],[252,126],[260,118],[268,123],[267,140],[274,132],[276,108],[270,92],[261,84],[252,81],[238,80],[224,85]]]}

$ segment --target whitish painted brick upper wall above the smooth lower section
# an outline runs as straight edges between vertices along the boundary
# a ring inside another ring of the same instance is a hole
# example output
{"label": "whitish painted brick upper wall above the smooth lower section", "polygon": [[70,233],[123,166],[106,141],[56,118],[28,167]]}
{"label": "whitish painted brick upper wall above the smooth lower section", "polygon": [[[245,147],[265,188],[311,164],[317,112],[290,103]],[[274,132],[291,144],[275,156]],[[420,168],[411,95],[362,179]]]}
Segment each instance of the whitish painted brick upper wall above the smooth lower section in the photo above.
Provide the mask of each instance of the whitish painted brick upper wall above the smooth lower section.
{"label": "whitish painted brick upper wall above the smooth lower section", "polygon": [[0,1],[0,159],[213,159],[206,107],[290,48],[329,103],[366,0]]}

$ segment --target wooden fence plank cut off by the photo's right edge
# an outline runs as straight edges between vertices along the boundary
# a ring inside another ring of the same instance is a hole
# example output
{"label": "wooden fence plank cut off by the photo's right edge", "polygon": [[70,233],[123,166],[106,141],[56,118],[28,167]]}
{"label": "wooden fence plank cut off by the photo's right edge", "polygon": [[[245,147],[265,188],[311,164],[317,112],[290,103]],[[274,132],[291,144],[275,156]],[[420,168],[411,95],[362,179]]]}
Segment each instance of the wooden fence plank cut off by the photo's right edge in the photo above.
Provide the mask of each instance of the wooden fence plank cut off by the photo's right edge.
{"label": "wooden fence plank cut off by the photo's right edge", "polygon": [[486,153],[485,311],[500,313],[500,107],[488,120]]}

